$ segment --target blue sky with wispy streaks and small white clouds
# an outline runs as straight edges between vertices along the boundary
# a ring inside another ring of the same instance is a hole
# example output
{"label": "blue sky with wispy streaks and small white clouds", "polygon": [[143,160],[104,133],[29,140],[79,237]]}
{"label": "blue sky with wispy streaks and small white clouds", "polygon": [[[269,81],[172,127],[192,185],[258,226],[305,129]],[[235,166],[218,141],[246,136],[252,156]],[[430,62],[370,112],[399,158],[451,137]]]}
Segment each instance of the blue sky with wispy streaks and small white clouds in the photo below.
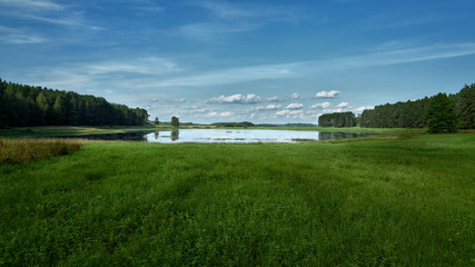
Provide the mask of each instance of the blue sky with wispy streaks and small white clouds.
{"label": "blue sky with wispy streaks and small white clouds", "polygon": [[0,78],[181,122],[317,123],[475,82],[474,0],[0,0]]}

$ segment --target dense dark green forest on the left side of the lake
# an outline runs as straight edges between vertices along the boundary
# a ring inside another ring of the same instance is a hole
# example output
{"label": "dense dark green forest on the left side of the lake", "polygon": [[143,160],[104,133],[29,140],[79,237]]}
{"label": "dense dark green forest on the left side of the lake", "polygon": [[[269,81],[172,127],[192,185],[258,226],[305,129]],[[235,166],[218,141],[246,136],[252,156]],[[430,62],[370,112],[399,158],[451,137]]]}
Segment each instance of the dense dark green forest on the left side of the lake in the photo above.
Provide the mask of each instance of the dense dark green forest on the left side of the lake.
{"label": "dense dark green forest on the left side of the lake", "polygon": [[149,115],[141,108],[103,98],[51,90],[0,79],[0,128],[21,126],[137,126]]}

